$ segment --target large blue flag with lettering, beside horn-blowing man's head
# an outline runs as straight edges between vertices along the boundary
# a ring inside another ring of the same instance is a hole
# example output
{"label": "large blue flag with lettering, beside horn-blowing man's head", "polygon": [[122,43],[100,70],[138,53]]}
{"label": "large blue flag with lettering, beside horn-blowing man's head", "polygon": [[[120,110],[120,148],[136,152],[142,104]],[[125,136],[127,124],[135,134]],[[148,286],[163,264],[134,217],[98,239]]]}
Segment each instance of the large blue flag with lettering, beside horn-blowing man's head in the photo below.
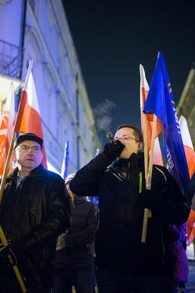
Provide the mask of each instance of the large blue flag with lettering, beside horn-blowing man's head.
{"label": "large blue flag with lettering, beside horn-blowing man's head", "polygon": [[184,194],[190,176],[176,106],[162,52],[158,52],[158,59],[143,112],[155,114],[163,123],[163,146],[168,170]]}

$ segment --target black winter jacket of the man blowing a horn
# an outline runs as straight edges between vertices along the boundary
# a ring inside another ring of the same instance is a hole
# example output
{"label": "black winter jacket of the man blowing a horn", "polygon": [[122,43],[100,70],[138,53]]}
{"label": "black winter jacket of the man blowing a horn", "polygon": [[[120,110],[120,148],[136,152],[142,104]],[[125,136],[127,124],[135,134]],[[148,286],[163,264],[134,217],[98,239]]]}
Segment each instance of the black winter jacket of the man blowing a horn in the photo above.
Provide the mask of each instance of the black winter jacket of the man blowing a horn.
{"label": "black winter jacket of the man blowing a horn", "polygon": [[[151,190],[160,197],[151,209],[146,243],[141,243],[144,207],[140,192],[145,189],[144,155],[116,159],[112,165],[102,152],[76,172],[71,191],[99,197],[99,226],[95,240],[96,264],[128,273],[157,273],[165,270],[168,223],[180,225],[188,218],[188,207],[175,179],[164,167],[153,165]],[[142,181],[140,176],[142,174]]]}

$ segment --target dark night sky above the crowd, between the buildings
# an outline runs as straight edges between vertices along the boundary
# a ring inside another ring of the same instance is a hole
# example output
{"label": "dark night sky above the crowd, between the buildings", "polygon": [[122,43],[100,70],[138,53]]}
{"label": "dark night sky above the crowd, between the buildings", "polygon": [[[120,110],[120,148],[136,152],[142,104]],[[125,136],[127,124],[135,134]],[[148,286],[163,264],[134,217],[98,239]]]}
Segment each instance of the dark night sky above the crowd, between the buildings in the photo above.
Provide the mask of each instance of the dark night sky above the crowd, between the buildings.
{"label": "dark night sky above the crowd, between the buildings", "polygon": [[139,65],[150,85],[158,51],[177,105],[195,61],[194,0],[65,0],[64,7],[92,109],[105,99],[115,106],[98,132],[103,145],[121,124],[141,128]]}

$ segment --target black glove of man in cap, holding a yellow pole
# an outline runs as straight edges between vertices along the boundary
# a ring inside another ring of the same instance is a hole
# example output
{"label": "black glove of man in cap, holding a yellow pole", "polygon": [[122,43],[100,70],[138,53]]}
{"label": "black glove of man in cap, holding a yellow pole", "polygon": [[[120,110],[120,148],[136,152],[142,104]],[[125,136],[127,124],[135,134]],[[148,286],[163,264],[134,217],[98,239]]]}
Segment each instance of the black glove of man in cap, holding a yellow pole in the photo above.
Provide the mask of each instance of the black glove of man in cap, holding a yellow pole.
{"label": "black glove of man in cap, holding a yellow pole", "polygon": [[23,239],[12,242],[0,250],[0,261],[3,266],[15,266],[18,261],[24,259],[24,247],[25,242]]}

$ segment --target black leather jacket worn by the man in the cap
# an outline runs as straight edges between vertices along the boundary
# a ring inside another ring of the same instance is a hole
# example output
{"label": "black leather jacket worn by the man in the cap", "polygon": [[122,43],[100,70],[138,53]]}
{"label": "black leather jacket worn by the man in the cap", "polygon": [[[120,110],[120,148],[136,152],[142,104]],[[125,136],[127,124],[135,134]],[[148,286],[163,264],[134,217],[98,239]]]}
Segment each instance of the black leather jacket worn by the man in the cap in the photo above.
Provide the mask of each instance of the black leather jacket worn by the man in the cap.
{"label": "black leather jacket worn by the man in the cap", "polygon": [[8,195],[16,194],[14,214],[6,223],[0,214],[0,223],[5,231],[9,225],[11,235],[5,233],[7,239],[22,238],[26,243],[27,257],[17,263],[19,272],[27,280],[26,286],[51,288],[57,238],[70,226],[69,193],[64,180],[42,165],[30,171],[18,187],[20,190],[16,188],[17,173],[15,168],[8,174],[0,206],[1,213]]}

